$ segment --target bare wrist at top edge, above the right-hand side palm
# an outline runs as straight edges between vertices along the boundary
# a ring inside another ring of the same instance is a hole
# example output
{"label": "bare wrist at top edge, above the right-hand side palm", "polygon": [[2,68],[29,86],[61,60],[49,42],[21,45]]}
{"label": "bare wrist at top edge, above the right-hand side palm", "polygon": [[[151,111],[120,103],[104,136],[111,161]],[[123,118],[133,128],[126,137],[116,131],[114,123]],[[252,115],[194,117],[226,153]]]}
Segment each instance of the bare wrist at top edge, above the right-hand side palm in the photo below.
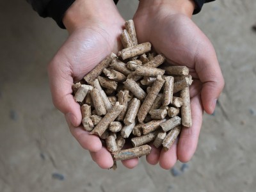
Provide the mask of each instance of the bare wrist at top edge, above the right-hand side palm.
{"label": "bare wrist at top edge, above the right-hand side palm", "polygon": [[193,0],[140,0],[138,10],[154,12],[159,8],[167,8],[173,14],[181,13],[191,18],[195,10],[195,2]]}

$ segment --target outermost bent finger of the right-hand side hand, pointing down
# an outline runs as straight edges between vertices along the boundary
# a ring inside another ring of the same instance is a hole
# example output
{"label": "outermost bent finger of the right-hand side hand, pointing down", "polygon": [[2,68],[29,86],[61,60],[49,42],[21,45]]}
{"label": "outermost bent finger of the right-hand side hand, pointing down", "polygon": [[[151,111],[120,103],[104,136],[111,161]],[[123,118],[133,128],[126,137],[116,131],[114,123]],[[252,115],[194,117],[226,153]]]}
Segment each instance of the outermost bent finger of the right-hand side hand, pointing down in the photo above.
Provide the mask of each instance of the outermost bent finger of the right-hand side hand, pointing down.
{"label": "outermost bent finger of the right-hand side hand, pointing down", "polygon": [[214,112],[216,101],[223,90],[224,79],[214,48],[209,40],[205,40],[205,42],[207,45],[200,48],[195,58],[195,69],[203,83],[201,97],[204,110],[211,114]]}

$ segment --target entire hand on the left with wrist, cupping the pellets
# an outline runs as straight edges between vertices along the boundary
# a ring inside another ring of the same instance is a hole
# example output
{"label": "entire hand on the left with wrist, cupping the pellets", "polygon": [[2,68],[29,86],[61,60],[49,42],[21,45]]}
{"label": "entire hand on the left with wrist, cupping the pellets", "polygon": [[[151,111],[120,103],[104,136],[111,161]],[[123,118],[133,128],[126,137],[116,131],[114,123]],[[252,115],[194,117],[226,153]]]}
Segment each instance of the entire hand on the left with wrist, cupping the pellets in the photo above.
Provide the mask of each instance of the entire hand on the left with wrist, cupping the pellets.
{"label": "entire hand on the left with wrist, cupping the pellets", "polygon": [[[120,34],[125,21],[113,0],[76,0],[68,8],[63,24],[69,36],[48,66],[54,106],[65,114],[70,132],[101,168],[113,165],[111,154],[98,136],[84,131],[81,108],[72,95],[72,84],[90,72],[111,52],[122,48]],[[123,162],[134,167],[138,159]]]}

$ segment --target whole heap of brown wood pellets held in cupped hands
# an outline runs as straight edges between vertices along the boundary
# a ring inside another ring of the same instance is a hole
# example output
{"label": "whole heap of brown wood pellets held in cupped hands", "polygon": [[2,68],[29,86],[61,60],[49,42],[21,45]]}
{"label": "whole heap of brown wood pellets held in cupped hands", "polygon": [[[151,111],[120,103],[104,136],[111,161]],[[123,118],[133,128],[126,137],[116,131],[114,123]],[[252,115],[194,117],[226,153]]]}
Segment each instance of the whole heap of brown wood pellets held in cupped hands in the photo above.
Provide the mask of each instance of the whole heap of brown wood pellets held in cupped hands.
{"label": "whole heap of brown wood pellets held in cupped hands", "polygon": [[[182,127],[192,125],[189,69],[164,64],[150,42],[138,44],[132,20],[121,39],[117,56],[111,53],[72,86],[84,129],[106,143],[114,161],[150,154],[148,143],[168,150]],[[125,143],[133,148],[123,150]]]}

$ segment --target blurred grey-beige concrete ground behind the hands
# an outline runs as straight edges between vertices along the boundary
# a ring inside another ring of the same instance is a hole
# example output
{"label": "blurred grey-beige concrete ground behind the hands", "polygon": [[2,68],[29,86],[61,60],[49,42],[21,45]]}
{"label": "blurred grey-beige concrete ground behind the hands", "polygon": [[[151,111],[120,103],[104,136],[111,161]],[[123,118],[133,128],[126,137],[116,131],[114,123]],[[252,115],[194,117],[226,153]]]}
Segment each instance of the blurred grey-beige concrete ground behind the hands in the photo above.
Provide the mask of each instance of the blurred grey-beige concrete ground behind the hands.
{"label": "blurred grey-beige concrete ground behind the hands", "polygon": [[[125,19],[136,0],[120,0]],[[205,4],[196,24],[211,39],[225,89],[204,115],[195,156],[162,170],[140,159],[133,170],[101,170],[54,108],[46,66],[67,38],[25,1],[0,2],[0,191],[255,191],[256,1]]]}

